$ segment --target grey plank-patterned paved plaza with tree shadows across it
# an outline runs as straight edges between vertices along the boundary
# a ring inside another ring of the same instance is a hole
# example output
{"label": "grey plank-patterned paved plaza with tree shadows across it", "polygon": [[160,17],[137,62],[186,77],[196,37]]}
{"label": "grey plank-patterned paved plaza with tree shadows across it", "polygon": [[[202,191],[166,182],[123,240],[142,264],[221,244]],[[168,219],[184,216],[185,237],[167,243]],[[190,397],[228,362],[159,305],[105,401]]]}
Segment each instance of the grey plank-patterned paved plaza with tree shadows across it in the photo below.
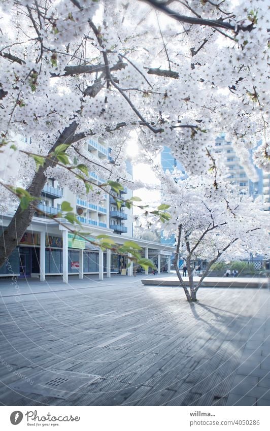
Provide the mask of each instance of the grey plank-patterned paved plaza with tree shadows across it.
{"label": "grey plank-patterned paved plaza with tree shadows across it", "polygon": [[1,404],[269,406],[269,290],[142,278],[2,280]]}

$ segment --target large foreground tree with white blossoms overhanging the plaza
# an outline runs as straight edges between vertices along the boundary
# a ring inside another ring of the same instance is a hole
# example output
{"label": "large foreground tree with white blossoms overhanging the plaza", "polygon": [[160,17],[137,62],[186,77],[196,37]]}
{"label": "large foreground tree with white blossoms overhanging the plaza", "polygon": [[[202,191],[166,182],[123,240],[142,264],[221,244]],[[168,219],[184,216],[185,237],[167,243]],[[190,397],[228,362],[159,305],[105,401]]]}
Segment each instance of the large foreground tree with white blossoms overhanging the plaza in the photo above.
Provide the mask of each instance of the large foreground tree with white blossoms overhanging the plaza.
{"label": "large foreground tree with white blossoms overhanging the plaza", "polygon": [[[193,173],[212,163],[217,129],[241,154],[261,139],[255,161],[266,164],[266,2],[3,0],[0,16],[2,211],[18,198],[0,265],[48,177],[87,193],[90,169],[125,181],[130,131]],[[110,143],[113,165],[83,153],[90,136]]]}

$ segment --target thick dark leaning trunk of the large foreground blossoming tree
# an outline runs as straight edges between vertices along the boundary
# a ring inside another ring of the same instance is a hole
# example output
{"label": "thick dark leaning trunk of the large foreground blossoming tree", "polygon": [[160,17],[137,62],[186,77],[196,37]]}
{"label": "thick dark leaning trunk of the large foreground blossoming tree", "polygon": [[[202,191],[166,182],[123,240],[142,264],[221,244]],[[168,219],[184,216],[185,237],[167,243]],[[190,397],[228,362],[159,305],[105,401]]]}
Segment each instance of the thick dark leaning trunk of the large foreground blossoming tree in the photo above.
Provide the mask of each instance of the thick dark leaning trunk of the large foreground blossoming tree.
{"label": "thick dark leaning trunk of the large foreground blossoming tree", "polygon": [[[75,121],[73,121],[73,123],[68,127],[65,127],[50,152],[54,151],[60,144],[70,143],[77,127],[78,124]],[[56,162],[57,161],[53,162],[51,160],[46,160],[44,166],[40,166],[38,172],[33,177],[31,184],[27,188],[28,193],[30,193],[31,196],[37,196],[37,199],[35,201],[31,201],[26,210],[22,210],[19,205],[10,224],[3,227],[3,233],[0,237],[0,268],[5,263],[5,258],[8,258],[15,247],[20,243],[25,230],[29,226],[33,215],[35,214],[33,206],[38,205],[41,191],[47,181],[45,171],[49,166],[55,166]]]}

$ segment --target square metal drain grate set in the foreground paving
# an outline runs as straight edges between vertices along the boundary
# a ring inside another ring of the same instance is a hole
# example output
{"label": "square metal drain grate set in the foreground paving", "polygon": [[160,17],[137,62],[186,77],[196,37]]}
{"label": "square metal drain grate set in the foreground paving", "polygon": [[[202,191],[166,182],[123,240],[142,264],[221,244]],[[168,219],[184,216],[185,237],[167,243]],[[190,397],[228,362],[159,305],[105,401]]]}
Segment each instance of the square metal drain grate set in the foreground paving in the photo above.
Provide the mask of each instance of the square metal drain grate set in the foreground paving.
{"label": "square metal drain grate set in the foreground paving", "polygon": [[87,385],[100,379],[100,376],[94,374],[82,374],[65,370],[44,371],[39,374],[36,372],[26,377],[30,382],[20,379],[12,383],[10,388],[17,392],[36,393],[62,400],[78,392],[84,386],[85,388],[82,389],[82,392],[87,393]]}

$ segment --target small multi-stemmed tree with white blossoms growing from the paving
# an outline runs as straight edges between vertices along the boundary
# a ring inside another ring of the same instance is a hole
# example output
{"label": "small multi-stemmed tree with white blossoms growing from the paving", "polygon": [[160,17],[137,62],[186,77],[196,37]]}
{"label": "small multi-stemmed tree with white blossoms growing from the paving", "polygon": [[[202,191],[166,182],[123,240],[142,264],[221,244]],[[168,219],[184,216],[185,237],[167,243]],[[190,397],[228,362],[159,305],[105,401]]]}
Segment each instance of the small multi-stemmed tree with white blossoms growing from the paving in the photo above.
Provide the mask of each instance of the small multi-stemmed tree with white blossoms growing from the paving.
{"label": "small multi-stemmed tree with white blossoms growing from the paving", "polygon": [[[223,181],[213,189],[212,175],[174,180],[165,173],[164,202],[170,205],[172,218],[164,225],[164,235],[176,236],[174,267],[188,301],[196,301],[196,293],[217,260],[241,258],[247,250],[265,254],[270,246],[268,213],[263,211],[260,198],[255,202],[246,194]],[[181,276],[178,261],[183,258],[187,267],[189,287]],[[193,280],[193,261],[207,261],[199,280]]]}

